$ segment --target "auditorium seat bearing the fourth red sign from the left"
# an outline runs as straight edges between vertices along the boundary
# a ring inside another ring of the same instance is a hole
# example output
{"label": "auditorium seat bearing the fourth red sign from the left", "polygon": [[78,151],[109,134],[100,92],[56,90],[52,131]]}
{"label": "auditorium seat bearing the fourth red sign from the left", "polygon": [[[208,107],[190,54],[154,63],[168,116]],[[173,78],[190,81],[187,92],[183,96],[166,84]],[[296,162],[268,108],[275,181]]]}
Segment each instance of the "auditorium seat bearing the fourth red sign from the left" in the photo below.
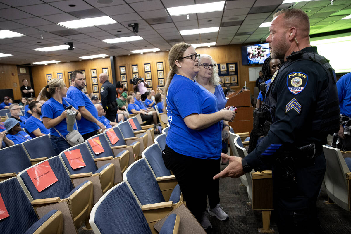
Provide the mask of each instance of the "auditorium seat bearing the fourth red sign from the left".
{"label": "auditorium seat bearing the fourth red sign from the left", "polygon": [[[98,148],[94,148],[91,144],[97,145]],[[87,146],[90,149],[90,152],[93,155],[94,161],[98,168],[102,167],[108,162],[113,163],[114,165],[114,183],[119,183],[123,180],[122,175],[125,169],[129,165],[129,155],[131,152],[128,150],[123,150],[121,152],[116,152],[116,154],[112,151],[110,144],[108,143],[105,134],[100,133],[98,135],[92,136],[91,138],[85,141]],[[99,146],[101,145],[101,146]]]}

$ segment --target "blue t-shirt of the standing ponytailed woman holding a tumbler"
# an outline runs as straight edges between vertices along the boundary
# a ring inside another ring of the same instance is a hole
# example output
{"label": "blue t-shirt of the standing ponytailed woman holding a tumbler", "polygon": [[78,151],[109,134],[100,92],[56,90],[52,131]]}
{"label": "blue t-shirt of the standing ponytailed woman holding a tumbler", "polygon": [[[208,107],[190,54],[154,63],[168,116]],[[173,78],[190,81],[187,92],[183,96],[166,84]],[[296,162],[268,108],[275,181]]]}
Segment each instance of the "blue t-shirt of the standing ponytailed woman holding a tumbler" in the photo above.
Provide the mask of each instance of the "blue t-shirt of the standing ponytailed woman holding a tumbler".
{"label": "blue t-shirt of the standing ponytailed woman holding a tumbler", "polygon": [[[67,104],[68,102],[68,104]],[[44,117],[50,118],[50,119],[55,119],[58,116],[62,114],[62,112],[65,111],[65,107],[72,105],[74,108],[78,109],[77,105],[72,101],[72,99],[69,98],[62,98],[62,103],[56,101],[53,98],[50,98],[47,100],[42,106],[41,106],[41,114]],[[63,119],[61,122],[59,122],[56,126],[54,126],[62,136],[66,137],[68,134],[67,131],[67,124],[66,124],[66,119]],[[77,126],[74,124],[73,129],[77,130]],[[58,132],[54,128],[50,128],[50,134],[54,136],[60,137]]]}

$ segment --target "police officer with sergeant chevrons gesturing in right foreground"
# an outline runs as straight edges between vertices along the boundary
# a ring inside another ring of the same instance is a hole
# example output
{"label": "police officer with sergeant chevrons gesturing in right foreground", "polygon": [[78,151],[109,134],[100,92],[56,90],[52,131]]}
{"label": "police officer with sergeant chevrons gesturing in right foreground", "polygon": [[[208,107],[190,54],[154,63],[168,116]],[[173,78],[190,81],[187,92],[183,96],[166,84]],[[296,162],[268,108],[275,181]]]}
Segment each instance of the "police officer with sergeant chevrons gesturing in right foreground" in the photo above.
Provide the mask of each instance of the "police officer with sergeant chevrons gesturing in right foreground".
{"label": "police officer with sergeant chevrons gesturing in right foreground", "polygon": [[272,163],[273,207],[279,233],[320,233],[316,201],[325,173],[322,145],[339,129],[336,76],[310,45],[310,22],[301,9],[273,16],[266,39],[271,56],[285,63],[273,75],[266,105],[270,130],[244,159],[228,156],[219,177],[239,177]]}

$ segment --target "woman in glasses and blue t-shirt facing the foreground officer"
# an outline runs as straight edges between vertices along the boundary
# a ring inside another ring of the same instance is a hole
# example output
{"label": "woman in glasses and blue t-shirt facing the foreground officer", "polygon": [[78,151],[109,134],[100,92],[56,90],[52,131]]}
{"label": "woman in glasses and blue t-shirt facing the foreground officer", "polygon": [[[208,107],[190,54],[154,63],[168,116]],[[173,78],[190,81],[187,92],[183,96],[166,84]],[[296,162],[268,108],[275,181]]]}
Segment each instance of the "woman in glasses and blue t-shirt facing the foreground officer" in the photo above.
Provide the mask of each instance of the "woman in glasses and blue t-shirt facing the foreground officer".
{"label": "woman in glasses and blue t-shirt facing the foreground officer", "polygon": [[206,229],[212,227],[206,216],[208,186],[216,175],[212,165],[222,151],[220,120],[232,121],[235,112],[218,111],[216,96],[194,80],[200,71],[199,58],[187,43],[176,44],[169,52],[172,69],[164,106],[170,129],[163,160],[176,176],[188,209]]}

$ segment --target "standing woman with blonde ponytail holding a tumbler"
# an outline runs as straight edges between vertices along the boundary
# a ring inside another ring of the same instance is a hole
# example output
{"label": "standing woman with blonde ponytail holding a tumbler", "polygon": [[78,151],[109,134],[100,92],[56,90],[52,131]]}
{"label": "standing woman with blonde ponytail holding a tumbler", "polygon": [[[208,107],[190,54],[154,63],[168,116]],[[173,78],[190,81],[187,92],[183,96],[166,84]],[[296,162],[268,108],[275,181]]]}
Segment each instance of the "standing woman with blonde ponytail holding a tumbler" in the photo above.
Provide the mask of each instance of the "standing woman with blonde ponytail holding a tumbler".
{"label": "standing woman with blonde ponytail holding a tumbler", "polygon": [[[77,111],[77,105],[75,105],[72,99],[65,98],[67,89],[62,79],[52,79],[40,92],[44,98],[48,99],[41,106],[41,114],[44,126],[50,129],[50,140],[57,155],[71,147],[71,145],[60,136],[61,134],[66,137],[68,134],[66,107],[72,106],[71,110],[76,111],[75,119],[81,119],[81,114]],[[76,124],[74,124],[73,129],[77,130]],[[58,132],[60,132],[60,134]]]}

